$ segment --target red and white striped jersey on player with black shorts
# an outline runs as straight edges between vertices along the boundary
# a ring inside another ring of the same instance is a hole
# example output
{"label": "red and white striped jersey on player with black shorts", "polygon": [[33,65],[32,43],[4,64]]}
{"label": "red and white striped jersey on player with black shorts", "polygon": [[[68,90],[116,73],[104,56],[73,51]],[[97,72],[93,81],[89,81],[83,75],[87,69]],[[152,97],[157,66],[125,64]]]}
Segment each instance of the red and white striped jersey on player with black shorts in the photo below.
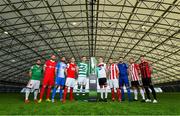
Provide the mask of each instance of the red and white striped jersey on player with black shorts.
{"label": "red and white striped jersey on player with black shorts", "polygon": [[131,77],[131,81],[140,80],[138,71],[139,71],[139,65],[138,64],[133,63],[129,66],[129,74]]}

